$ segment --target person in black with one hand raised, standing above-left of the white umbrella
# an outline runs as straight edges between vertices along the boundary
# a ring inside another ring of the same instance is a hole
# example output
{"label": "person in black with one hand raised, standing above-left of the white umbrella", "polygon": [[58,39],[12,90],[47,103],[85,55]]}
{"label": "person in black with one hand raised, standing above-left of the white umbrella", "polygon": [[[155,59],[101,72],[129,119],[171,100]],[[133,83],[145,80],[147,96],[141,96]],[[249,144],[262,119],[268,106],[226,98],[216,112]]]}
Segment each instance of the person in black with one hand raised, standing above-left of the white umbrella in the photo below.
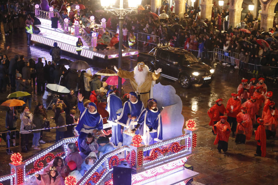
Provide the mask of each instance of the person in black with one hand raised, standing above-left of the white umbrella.
{"label": "person in black with one hand raised, standing above-left of the white umbrella", "polygon": [[[45,62],[47,63],[45,57]],[[44,64],[42,63],[42,59],[38,58],[38,63],[35,65],[36,69],[36,76],[37,76],[37,94],[40,96],[42,93],[44,93],[45,88],[45,80],[44,80]]]}

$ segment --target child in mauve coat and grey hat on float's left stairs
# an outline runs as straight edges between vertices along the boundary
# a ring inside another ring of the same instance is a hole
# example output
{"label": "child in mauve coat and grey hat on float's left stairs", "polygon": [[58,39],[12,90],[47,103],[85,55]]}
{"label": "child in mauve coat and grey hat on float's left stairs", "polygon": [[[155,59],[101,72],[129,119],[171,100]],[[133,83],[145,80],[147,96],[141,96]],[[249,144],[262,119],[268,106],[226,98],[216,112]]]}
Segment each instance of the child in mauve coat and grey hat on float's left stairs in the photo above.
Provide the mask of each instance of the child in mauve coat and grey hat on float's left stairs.
{"label": "child in mauve coat and grey hat on float's left stairs", "polygon": [[65,158],[65,162],[68,163],[70,161],[75,161],[77,168],[80,168],[81,164],[83,162],[83,159],[82,159],[81,155],[78,153],[75,143],[70,142],[67,145],[67,149],[68,149],[68,154]]}

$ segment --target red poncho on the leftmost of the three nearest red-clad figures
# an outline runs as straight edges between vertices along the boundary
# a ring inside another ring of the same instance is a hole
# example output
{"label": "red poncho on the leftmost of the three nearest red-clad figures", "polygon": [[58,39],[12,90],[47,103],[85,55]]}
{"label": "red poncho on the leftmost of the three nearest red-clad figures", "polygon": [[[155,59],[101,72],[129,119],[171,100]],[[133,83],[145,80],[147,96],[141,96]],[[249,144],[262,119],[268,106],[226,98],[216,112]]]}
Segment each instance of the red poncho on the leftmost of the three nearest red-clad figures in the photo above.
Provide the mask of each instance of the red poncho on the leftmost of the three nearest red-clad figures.
{"label": "red poncho on the leftmost of the three nearest red-clad figures", "polygon": [[[230,124],[225,120],[225,123],[218,121],[214,126],[216,126],[216,129],[213,127],[213,131],[217,135],[213,144],[216,145],[219,140],[228,142],[231,133]],[[229,131],[227,131],[227,129],[229,129]]]}

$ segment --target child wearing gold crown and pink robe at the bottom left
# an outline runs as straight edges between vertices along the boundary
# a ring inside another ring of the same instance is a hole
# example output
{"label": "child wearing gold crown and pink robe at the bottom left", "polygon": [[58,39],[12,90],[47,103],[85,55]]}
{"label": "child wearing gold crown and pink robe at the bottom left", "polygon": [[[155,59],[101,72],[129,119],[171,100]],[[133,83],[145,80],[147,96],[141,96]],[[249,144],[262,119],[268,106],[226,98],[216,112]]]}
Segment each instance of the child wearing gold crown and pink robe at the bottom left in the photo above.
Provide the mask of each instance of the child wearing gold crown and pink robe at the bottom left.
{"label": "child wearing gold crown and pink robe at the bottom left", "polygon": [[38,185],[65,185],[64,179],[53,166],[46,174],[36,174],[35,177]]}

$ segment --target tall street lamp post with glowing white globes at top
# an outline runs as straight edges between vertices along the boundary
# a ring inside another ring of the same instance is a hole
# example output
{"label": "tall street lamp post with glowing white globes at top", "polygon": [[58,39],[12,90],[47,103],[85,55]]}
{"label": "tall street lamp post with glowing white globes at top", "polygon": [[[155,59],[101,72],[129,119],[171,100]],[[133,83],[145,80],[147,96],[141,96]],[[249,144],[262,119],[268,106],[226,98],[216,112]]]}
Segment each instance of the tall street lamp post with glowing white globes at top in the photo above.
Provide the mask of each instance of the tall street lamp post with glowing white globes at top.
{"label": "tall street lamp post with glowing white globes at top", "polygon": [[[118,68],[122,65],[122,49],[123,49],[123,22],[124,16],[131,12],[133,8],[136,8],[137,5],[141,4],[141,0],[128,0],[128,6],[131,8],[124,9],[124,0],[120,0],[119,8],[114,8],[112,5],[115,5],[115,0],[101,0],[101,6],[104,6],[104,10],[119,16],[119,62]],[[106,8],[110,6],[112,9],[107,10]],[[121,94],[122,92],[122,78],[118,76],[118,90]]]}

